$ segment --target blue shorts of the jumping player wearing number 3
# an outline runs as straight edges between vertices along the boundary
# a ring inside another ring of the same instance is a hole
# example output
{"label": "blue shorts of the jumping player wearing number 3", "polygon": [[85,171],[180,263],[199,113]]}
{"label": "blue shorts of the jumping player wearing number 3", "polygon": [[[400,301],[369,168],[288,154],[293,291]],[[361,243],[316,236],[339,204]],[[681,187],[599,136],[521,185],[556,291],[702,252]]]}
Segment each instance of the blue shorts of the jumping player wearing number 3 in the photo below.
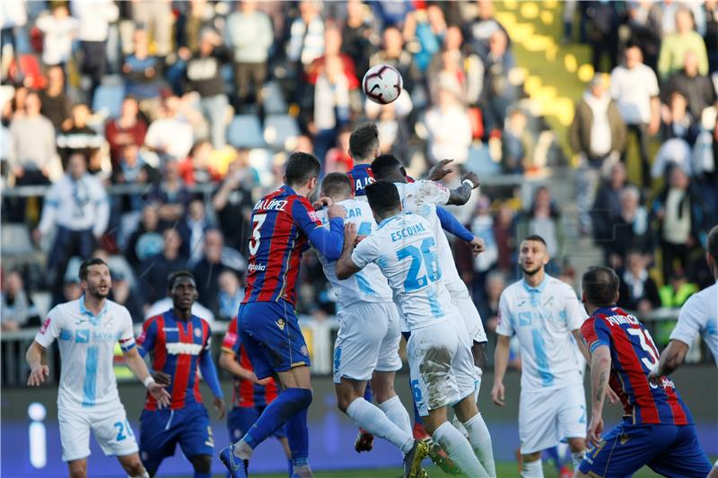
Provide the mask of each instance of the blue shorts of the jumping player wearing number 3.
{"label": "blue shorts of the jumping player wearing number 3", "polygon": [[238,320],[241,343],[257,378],[311,365],[299,321],[285,300],[242,304]]}

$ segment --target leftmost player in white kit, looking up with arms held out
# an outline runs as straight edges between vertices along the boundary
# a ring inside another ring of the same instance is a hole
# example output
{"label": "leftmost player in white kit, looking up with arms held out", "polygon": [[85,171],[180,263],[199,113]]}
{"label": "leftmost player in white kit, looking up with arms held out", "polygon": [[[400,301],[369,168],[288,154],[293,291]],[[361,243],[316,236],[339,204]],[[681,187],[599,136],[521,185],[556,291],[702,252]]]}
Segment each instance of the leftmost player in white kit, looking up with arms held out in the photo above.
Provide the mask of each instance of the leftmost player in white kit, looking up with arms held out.
{"label": "leftmost player in white kit, looking up with arms held out", "polygon": [[149,389],[158,406],[167,406],[170,395],[154,382],[137,353],[132,317],[124,307],[107,300],[112,280],[102,259],[80,265],[83,297],[59,304],[48,313],[27,352],[31,374],[28,385],[37,387],[48,377],[45,357],[58,340],[62,371],[57,394],[62,459],[71,478],[87,476],[90,431],[106,455],[118,457],[131,478],[148,478],[137,454],[135,434],[119,401],[112,369],[115,343],[119,341],[127,367]]}

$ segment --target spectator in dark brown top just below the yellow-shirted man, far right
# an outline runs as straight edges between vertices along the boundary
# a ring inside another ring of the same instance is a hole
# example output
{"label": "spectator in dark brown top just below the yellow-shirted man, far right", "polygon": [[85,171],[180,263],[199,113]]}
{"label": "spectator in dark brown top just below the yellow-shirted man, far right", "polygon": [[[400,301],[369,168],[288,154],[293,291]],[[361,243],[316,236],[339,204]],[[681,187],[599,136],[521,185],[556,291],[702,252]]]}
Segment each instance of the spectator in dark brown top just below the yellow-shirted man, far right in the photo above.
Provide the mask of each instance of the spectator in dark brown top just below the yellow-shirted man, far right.
{"label": "spectator in dark brown top just below the yellow-shirted man, far right", "polygon": [[715,103],[715,89],[711,80],[698,72],[698,57],[693,51],[686,53],[683,69],[670,77],[663,91],[663,98],[668,102],[675,91],[679,91],[687,100],[691,116],[700,121],[703,110]]}

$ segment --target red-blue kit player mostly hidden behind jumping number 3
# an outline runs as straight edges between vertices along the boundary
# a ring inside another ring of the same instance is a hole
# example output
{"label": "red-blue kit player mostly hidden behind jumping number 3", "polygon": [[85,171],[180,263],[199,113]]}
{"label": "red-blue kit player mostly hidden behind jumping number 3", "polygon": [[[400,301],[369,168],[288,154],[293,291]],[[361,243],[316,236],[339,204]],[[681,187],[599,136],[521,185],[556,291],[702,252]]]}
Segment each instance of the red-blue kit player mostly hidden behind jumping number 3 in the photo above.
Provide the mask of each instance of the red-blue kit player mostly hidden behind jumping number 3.
{"label": "red-blue kit player mostly hidden behind jumping number 3", "polygon": [[[224,334],[219,366],[234,376],[232,410],[227,413],[227,429],[230,433],[230,442],[233,442],[241,439],[250,430],[252,424],[257,422],[259,415],[279,394],[279,388],[274,378],[259,380],[254,374],[250,358],[237,334],[236,317],[227,326],[227,332]],[[292,476],[292,452],[289,450],[284,427],[276,430],[272,436],[279,440],[285,450],[289,476]]]}

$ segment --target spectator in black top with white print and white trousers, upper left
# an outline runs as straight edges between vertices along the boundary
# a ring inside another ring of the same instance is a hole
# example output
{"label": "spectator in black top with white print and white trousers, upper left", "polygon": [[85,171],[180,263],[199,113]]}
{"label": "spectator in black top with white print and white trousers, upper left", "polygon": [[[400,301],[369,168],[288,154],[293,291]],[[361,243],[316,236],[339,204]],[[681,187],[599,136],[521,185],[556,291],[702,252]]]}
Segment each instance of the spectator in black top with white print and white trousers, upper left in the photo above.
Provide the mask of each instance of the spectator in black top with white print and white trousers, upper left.
{"label": "spectator in black top with white print and white trousers, upper left", "polygon": [[230,103],[224,93],[222,65],[232,60],[232,51],[223,45],[222,37],[215,30],[206,29],[202,32],[197,53],[180,48],[179,55],[187,62],[187,91],[199,93],[199,108],[209,122],[212,145],[223,148]]}

